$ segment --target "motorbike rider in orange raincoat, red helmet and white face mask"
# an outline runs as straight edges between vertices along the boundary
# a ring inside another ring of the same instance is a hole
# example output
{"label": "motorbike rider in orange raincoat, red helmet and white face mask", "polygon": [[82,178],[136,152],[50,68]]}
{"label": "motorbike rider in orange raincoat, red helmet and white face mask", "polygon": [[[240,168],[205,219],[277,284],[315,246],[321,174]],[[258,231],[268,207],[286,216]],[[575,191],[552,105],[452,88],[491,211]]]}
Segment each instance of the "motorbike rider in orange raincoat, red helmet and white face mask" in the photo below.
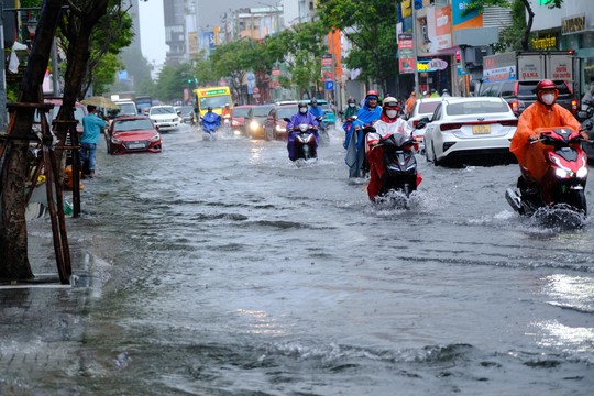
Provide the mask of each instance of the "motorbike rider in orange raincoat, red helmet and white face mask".
{"label": "motorbike rider in orange raincoat, red helmet and white face mask", "polygon": [[[556,103],[559,90],[553,81],[540,80],[536,87],[536,96],[537,100],[519,117],[509,147],[522,173],[518,178],[518,188],[524,194],[535,194],[547,173],[547,147],[542,142],[532,143],[540,138],[536,129],[571,127],[579,131],[581,127],[569,110]],[[581,135],[587,139],[587,133],[581,132]]]}

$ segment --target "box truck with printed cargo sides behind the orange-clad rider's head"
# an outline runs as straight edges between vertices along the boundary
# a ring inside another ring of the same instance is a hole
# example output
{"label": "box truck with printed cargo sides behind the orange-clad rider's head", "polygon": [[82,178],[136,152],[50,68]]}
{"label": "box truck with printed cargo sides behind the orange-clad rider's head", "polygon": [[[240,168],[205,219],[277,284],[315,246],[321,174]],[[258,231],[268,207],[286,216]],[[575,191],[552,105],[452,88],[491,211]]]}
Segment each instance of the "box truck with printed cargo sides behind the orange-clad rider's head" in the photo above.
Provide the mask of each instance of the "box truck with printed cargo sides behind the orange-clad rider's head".
{"label": "box truck with printed cargo sides behind the orange-clad rider's head", "polygon": [[576,114],[580,62],[573,51],[517,51],[485,56],[479,96],[502,97],[519,114],[535,102],[538,81],[548,78],[559,90],[557,102]]}

